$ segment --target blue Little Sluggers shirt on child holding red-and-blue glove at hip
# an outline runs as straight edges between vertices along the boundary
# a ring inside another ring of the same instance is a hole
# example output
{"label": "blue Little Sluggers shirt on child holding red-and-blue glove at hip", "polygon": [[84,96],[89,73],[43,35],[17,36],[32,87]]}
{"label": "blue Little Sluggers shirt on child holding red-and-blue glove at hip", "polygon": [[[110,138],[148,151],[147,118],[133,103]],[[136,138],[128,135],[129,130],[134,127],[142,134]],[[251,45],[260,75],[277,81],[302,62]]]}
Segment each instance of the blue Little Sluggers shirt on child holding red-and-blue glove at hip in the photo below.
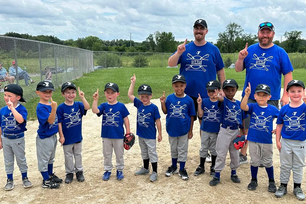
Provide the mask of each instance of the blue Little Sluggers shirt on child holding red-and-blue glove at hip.
{"label": "blue Little Sluggers shirt on child holding red-and-blue glove at hip", "polygon": [[240,108],[241,102],[238,100],[233,102],[226,97],[223,98],[223,102],[218,102],[218,107],[221,113],[221,124],[226,126],[241,126],[242,120],[248,117],[248,115]]}

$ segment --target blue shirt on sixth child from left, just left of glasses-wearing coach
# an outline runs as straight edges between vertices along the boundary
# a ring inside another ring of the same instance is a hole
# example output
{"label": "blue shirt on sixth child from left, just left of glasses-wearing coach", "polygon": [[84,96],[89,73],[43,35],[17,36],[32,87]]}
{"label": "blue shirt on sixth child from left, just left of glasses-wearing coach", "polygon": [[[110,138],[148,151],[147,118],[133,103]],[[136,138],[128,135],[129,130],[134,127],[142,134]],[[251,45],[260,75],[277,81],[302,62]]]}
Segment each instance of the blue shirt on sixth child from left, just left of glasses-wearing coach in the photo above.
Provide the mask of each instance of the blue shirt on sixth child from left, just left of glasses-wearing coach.
{"label": "blue shirt on sixth child from left, just left of glasses-wearing coach", "polygon": [[170,137],[180,137],[189,132],[191,125],[190,116],[195,116],[196,111],[192,98],[185,95],[183,98],[170,94],[165,102],[167,108],[166,131]]}

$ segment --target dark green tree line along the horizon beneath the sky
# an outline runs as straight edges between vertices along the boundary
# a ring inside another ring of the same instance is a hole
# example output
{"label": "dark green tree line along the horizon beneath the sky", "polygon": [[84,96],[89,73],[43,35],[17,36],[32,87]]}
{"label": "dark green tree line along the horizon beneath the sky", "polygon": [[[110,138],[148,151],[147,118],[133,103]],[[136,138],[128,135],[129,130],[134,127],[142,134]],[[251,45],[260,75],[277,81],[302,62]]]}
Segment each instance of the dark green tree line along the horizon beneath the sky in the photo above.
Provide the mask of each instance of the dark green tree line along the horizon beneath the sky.
{"label": "dark green tree line along the horizon beneath the sky", "polygon": [[[278,34],[279,35],[279,34]],[[114,51],[114,52],[161,52],[173,53],[177,46],[183,41],[176,41],[172,32],[156,31],[149,34],[146,40],[135,42],[126,39],[103,40],[97,36],[87,36],[85,38],[61,40],[54,35],[29,35],[16,32],[7,32],[4,36],[18,37],[24,39],[38,40],[48,43],[56,43],[78,47],[93,51]],[[287,53],[306,53],[306,39],[302,39],[301,31],[286,31],[283,34],[285,40],[280,42],[275,40],[274,44],[281,46]],[[192,41],[187,41],[187,43]],[[215,44],[221,53],[238,53],[245,46],[245,43],[252,45],[258,42],[257,35],[244,32],[241,25],[230,22],[223,32],[218,33]],[[211,42],[212,43],[212,42]]]}

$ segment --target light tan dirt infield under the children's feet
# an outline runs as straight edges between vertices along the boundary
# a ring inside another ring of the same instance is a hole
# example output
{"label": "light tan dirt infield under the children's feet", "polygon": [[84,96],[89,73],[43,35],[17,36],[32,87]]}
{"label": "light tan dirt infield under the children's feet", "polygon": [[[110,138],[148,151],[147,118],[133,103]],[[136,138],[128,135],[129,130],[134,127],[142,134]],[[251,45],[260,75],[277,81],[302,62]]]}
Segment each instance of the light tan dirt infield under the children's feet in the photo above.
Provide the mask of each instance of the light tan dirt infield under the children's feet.
{"label": "light tan dirt infield under the children's feet", "polygon": [[[241,99],[241,91],[237,92],[236,99]],[[177,174],[166,177],[164,172],[171,165],[170,146],[166,133],[166,115],[162,114],[159,99],[152,100],[159,107],[162,122],[162,141],[157,143],[158,152],[158,180],[153,183],[149,180],[149,175],[135,176],[134,171],[142,165],[140,147],[138,139],[131,150],[125,151],[124,176],[121,181],[116,180],[116,169],[112,171],[110,180],[103,181],[103,154],[101,120],[95,114],[88,111],[83,118],[83,165],[85,181],[80,183],[74,180],[71,184],[62,183],[58,189],[45,189],[41,187],[42,176],[38,171],[35,137],[38,128],[38,121],[29,121],[26,132],[26,158],[28,162],[28,177],[33,183],[33,187],[25,189],[21,181],[21,173],[15,161],[14,182],[12,191],[4,191],[6,184],[5,166],[3,154],[0,150],[0,203],[297,203],[293,193],[292,176],[288,184],[288,194],[283,198],[275,198],[273,193],[267,191],[268,178],[264,168],[259,168],[258,187],[256,191],[247,189],[251,180],[250,165],[244,164],[237,169],[237,174],[241,178],[240,184],[235,184],[230,180],[230,157],[228,154],[226,166],[221,172],[221,182],[215,187],[208,183],[210,163],[205,163],[206,172],[200,176],[194,176],[193,172],[199,165],[200,135],[198,122],[193,128],[193,138],[189,140],[188,161],[186,162],[189,180],[182,180]],[[130,127],[132,132],[136,132],[136,108],[132,103],[126,104],[129,112]],[[275,125],[275,124],[274,124]],[[279,186],[279,152],[275,145],[274,136],[274,175],[277,187]],[[248,160],[249,160],[248,156]],[[113,154],[113,164],[115,167],[115,155]],[[151,167],[150,167],[151,169]],[[65,165],[63,149],[58,143],[54,162],[54,172],[65,179]],[[305,179],[305,174],[304,174]],[[302,188],[306,190],[305,183]]]}

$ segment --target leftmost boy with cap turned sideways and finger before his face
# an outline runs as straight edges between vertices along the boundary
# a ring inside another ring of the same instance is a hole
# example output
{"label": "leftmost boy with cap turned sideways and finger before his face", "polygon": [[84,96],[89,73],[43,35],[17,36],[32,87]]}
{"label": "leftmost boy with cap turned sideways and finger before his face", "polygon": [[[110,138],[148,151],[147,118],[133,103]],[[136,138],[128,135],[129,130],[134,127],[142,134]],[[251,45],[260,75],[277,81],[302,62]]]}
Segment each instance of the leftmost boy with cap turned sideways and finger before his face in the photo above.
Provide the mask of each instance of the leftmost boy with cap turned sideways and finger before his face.
{"label": "leftmost boy with cap turned sideways and finger before his face", "polygon": [[28,165],[25,158],[24,131],[27,124],[28,111],[18,102],[25,102],[23,90],[17,84],[9,84],[4,87],[4,101],[6,106],[0,110],[1,130],[0,149],[3,147],[3,157],[7,183],[4,190],[9,191],[14,188],[13,171],[14,157],[22,175],[24,188],[32,187],[28,180]]}

